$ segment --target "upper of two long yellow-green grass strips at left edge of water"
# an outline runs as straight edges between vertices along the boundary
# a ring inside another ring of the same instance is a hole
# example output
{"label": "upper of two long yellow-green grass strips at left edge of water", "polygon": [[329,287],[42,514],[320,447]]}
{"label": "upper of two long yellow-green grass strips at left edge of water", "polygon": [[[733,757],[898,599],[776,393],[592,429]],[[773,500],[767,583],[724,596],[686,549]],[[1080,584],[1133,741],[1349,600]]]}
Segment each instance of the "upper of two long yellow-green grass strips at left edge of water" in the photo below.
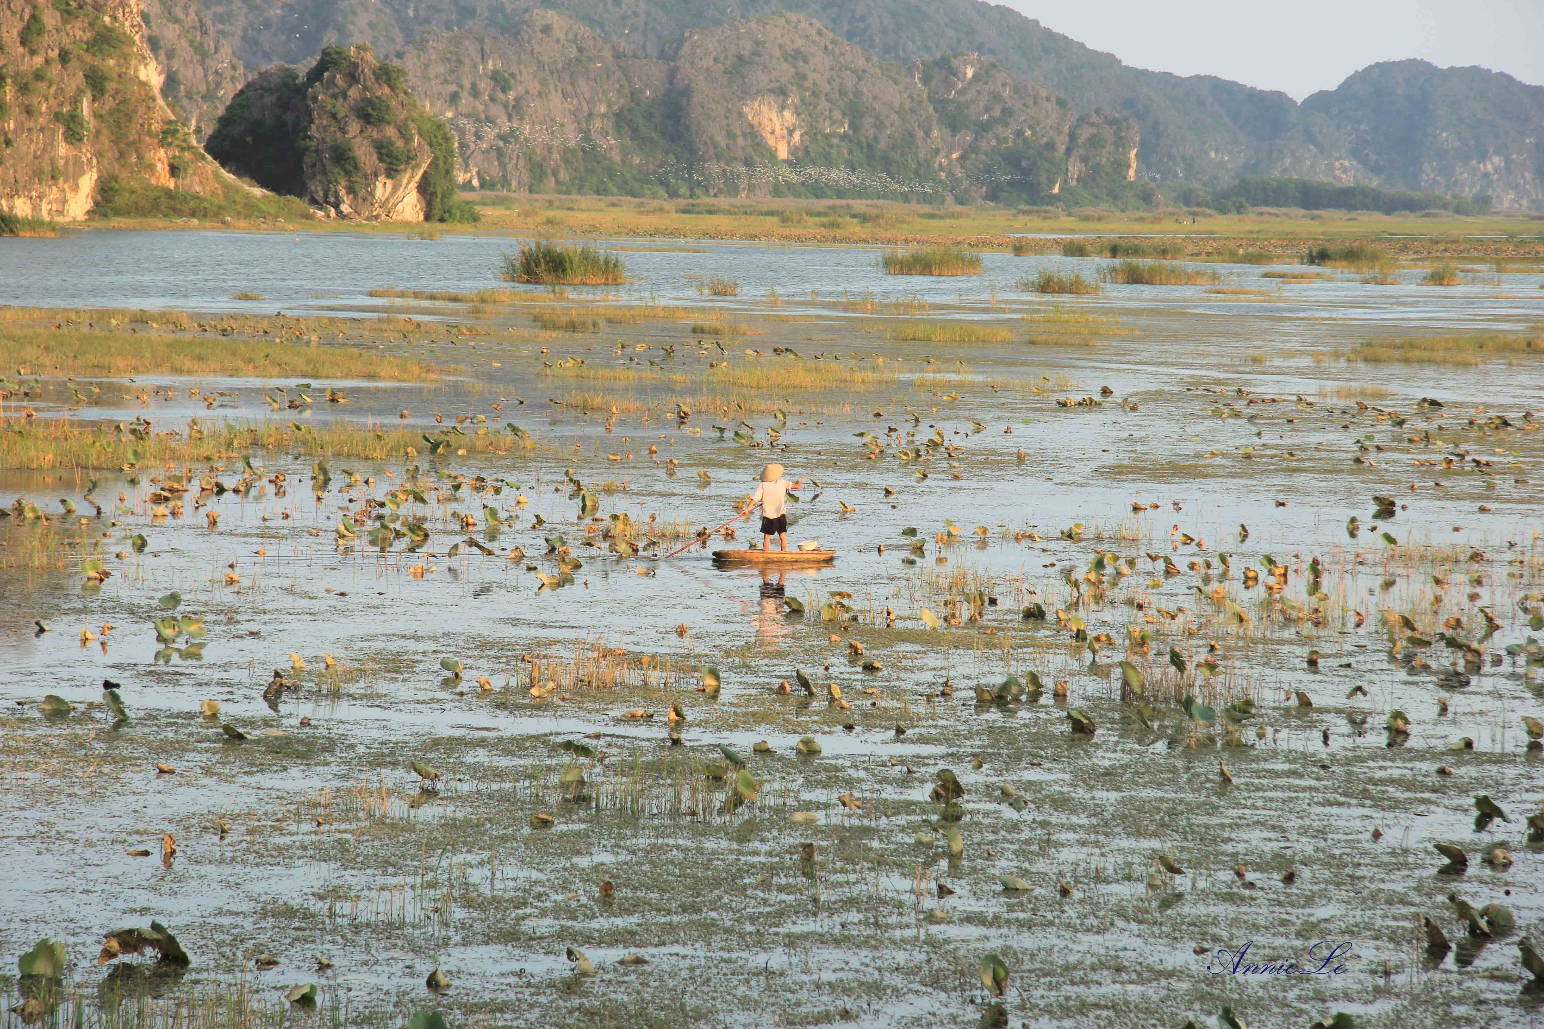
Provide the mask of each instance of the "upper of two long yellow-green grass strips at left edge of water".
{"label": "upper of two long yellow-green grass strips at left edge of water", "polygon": [[12,329],[3,347],[6,372],[20,375],[124,376],[221,375],[258,378],[374,378],[428,383],[440,372],[414,358],[357,347],[301,346],[273,339],[170,336],[80,329]]}

